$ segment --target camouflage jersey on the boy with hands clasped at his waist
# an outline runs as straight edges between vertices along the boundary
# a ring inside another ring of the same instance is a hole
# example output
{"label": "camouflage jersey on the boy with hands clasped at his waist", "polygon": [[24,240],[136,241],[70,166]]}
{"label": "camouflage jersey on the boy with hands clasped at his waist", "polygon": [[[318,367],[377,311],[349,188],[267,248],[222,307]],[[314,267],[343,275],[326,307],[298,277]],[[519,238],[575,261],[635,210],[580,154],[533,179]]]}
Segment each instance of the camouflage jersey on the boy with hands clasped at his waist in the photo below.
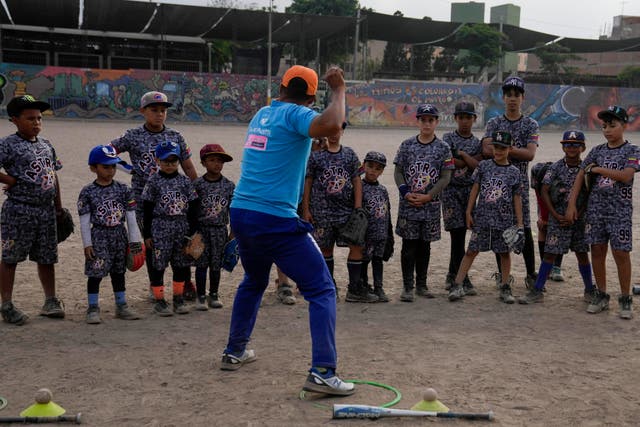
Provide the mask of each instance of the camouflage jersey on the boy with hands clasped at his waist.
{"label": "camouflage jersey on the boy with hands clasped at his waist", "polygon": [[[393,163],[404,171],[409,191],[420,194],[427,194],[433,188],[443,170],[455,169],[449,146],[438,137],[428,144],[422,144],[417,136],[403,141]],[[439,222],[440,197],[421,207],[413,207],[401,197],[398,218]]]}

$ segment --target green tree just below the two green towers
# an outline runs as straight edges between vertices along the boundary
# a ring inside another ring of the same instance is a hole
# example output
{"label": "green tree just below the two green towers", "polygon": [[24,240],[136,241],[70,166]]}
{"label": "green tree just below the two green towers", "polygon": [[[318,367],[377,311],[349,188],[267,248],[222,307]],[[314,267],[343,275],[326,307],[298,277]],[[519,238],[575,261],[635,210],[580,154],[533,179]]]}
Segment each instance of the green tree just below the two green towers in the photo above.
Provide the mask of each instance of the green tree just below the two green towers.
{"label": "green tree just below the two green towers", "polygon": [[456,33],[455,41],[467,51],[459,64],[482,69],[498,63],[507,37],[487,24],[467,24]]}

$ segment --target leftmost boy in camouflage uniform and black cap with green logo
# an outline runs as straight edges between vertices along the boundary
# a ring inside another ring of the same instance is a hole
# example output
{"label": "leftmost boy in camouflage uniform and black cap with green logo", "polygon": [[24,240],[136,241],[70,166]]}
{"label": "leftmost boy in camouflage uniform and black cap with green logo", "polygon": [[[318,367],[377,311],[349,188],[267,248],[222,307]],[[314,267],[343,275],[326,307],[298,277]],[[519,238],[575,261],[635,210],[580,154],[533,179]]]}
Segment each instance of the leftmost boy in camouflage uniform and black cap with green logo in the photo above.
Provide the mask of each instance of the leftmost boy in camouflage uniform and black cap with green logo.
{"label": "leftmost boy in camouflage uniform and black cap with green logo", "polygon": [[49,104],[30,95],[7,104],[9,120],[17,132],[0,140],[0,183],[7,199],[2,204],[2,262],[0,262],[0,313],[5,322],[24,324],[29,316],[11,300],[16,267],[27,256],[38,263],[38,277],[45,303],[40,315],[64,317],[56,297],[55,263],[58,262],[56,215],[61,214],[60,186],[56,171],[62,168],[49,141],[38,136],[42,112]]}

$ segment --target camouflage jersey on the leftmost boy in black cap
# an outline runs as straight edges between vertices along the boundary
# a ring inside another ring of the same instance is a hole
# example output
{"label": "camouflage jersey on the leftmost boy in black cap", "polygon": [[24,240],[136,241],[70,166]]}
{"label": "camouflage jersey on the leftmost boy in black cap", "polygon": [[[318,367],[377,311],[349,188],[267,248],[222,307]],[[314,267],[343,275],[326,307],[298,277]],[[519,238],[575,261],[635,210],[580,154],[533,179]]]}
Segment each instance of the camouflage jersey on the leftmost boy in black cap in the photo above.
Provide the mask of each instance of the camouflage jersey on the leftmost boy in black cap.
{"label": "camouflage jersey on the leftmost boy in black cap", "polygon": [[18,134],[0,139],[0,168],[16,179],[6,192],[8,199],[30,205],[53,203],[56,171],[62,164],[48,140],[28,141]]}

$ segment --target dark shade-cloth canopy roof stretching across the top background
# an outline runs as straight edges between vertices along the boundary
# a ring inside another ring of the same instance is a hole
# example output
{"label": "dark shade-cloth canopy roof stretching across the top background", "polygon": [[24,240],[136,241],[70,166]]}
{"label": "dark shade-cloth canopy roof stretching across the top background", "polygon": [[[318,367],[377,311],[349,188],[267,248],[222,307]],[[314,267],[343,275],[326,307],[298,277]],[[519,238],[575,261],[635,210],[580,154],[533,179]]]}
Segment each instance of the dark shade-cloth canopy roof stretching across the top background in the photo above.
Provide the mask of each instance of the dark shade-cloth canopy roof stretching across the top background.
{"label": "dark shade-cloth canopy roof stretching across the top background", "polygon": [[[258,42],[268,36],[268,12],[183,6],[130,0],[4,0],[3,29],[77,33],[130,38],[159,38],[205,43],[211,39]],[[455,41],[461,24],[362,11],[364,38],[463,48]],[[356,18],[295,13],[272,14],[274,43],[299,42],[352,31]],[[497,24],[491,24],[497,27]],[[562,38],[510,25],[503,26],[510,51],[534,50],[557,42],[572,52],[640,51],[640,38],[592,40]]]}

